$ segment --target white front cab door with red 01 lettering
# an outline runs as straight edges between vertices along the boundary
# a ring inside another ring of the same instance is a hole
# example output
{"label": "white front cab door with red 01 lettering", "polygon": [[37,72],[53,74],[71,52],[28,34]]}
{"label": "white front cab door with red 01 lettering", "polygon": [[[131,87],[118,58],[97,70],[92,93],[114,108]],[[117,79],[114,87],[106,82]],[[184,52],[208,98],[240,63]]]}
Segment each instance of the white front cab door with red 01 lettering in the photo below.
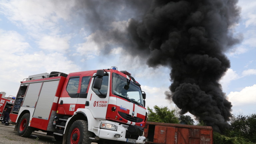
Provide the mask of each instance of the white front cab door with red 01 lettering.
{"label": "white front cab door with red 01 lettering", "polygon": [[110,72],[102,77],[101,89],[93,88],[95,77],[92,78],[87,95],[88,106],[94,118],[105,119],[109,101]]}

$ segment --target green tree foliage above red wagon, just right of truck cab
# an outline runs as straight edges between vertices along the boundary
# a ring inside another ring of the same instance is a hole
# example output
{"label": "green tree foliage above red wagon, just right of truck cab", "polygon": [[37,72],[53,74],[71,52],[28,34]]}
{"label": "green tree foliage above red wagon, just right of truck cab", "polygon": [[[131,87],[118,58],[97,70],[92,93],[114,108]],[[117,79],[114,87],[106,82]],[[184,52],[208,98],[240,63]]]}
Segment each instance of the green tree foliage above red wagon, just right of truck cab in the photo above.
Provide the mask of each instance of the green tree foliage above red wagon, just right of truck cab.
{"label": "green tree foliage above red wagon, just right of truck cab", "polygon": [[175,109],[170,110],[167,106],[159,107],[154,106],[153,109],[147,107],[148,110],[148,121],[152,122],[164,122],[164,123],[179,123],[178,118],[175,116]]}

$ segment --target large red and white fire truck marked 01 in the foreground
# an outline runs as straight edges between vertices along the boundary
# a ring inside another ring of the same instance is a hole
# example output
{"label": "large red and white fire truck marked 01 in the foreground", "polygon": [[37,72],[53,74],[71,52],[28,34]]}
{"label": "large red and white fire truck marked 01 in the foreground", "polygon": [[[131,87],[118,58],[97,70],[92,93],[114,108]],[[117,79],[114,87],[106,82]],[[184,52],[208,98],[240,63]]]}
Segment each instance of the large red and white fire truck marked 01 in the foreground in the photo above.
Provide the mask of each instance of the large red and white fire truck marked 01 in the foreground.
{"label": "large red and white fire truck marked 01 in the foreground", "polygon": [[145,98],[116,67],[43,73],[21,82],[10,119],[23,137],[41,130],[63,144],[145,143]]}

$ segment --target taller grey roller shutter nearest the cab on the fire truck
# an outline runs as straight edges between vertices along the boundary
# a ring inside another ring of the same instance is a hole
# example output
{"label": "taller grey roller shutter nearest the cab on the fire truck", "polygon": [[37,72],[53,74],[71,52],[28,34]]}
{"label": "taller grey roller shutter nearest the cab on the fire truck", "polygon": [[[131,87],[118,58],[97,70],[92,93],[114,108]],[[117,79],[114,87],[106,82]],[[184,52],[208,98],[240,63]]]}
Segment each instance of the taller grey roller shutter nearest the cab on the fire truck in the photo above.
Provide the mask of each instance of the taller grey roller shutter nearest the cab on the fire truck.
{"label": "taller grey roller shutter nearest the cab on the fire truck", "polygon": [[49,119],[58,84],[59,80],[48,81],[43,83],[42,90],[40,92],[35,112],[33,115],[34,118],[41,118],[46,120]]}

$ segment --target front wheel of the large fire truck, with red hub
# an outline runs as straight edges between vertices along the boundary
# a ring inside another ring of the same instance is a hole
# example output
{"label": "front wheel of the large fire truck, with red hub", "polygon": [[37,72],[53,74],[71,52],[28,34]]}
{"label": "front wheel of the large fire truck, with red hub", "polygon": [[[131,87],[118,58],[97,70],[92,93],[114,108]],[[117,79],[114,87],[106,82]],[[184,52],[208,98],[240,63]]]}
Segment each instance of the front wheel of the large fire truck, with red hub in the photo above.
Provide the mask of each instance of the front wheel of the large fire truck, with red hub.
{"label": "front wheel of the large fire truck, with red hub", "polygon": [[70,127],[68,132],[68,144],[91,144],[92,132],[88,131],[88,122],[84,120],[76,120]]}

